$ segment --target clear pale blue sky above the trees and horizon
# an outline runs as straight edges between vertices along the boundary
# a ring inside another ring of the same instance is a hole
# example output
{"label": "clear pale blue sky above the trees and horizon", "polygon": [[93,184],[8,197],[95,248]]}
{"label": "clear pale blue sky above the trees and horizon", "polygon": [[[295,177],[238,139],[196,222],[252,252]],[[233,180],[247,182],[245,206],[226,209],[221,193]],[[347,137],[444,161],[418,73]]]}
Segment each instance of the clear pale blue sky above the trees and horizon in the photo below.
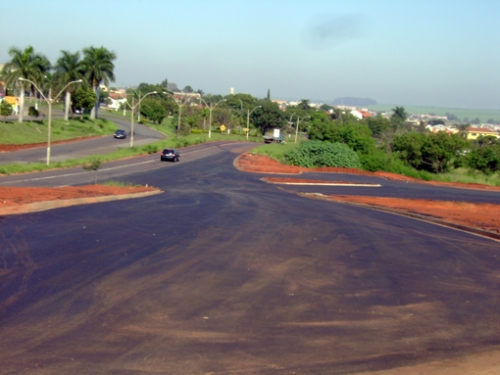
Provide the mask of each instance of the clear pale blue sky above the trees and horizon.
{"label": "clear pale blue sky above the trees and horizon", "polygon": [[110,86],[500,109],[499,0],[0,1],[0,63],[102,46]]}

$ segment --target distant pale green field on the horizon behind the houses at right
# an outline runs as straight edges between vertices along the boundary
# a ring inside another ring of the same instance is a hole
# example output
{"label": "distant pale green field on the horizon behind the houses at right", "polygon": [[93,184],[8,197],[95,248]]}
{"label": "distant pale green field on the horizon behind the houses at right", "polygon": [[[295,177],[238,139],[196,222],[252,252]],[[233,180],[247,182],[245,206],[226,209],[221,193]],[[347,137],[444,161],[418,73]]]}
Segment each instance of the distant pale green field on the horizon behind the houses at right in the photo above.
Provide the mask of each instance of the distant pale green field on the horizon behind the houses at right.
{"label": "distant pale green field on the horizon behind the houses at right", "polygon": [[[368,109],[376,112],[390,111],[395,108],[396,104],[376,104],[369,106]],[[499,109],[466,109],[466,108],[439,108],[439,107],[419,107],[419,106],[406,106],[403,105],[406,113],[414,115],[425,115],[434,113],[437,116],[445,116],[446,112],[452,113],[457,116],[461,121],[466,117],[469,121],[479,118],[482,123],[486,123],[489,119],[494,119],[500,123],[500,110]]]}

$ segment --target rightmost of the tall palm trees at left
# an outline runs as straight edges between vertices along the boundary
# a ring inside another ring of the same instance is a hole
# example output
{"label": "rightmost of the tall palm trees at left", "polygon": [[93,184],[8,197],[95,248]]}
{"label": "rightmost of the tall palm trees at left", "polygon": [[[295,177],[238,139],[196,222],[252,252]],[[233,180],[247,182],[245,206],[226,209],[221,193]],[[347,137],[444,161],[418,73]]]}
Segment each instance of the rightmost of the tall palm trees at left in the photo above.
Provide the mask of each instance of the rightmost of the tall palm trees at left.
{"label": "rightmost of the tall palm trees at left", "polygon": [[115,75],[113,70],[115,65],[113,64],[113,60],[116,59],[116,54],[114,52],[108,51],[104,47],[88,47],[83,49],[84,59],[83,66],[85,69],[85,76],[87,78],[87,82],[94,90],[97,101],[90,112],[90,118],[94,120],[98,117],[99,110],[99,86],[102,82],[108,85],[109,82],[115,81]]}

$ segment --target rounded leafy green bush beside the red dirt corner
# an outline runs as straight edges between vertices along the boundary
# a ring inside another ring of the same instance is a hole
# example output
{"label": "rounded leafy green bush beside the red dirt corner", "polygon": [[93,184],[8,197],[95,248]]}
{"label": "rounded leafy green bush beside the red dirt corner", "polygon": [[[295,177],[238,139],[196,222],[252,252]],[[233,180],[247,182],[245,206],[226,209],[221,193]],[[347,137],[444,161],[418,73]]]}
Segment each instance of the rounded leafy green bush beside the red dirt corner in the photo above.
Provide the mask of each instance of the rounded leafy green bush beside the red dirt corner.
{"label": "rounded leafy green bush beside the red dirt corner", "polygon": [[342,143],[309,141],[287,151],[285,161],[300,167],[360,168],[359,156]]}

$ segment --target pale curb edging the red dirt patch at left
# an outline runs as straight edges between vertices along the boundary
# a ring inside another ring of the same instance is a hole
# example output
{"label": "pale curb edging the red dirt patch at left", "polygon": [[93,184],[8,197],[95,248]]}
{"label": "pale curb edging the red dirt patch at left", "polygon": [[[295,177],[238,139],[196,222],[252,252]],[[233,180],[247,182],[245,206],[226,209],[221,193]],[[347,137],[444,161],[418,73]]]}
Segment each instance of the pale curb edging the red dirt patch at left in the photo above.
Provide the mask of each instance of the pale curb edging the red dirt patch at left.
{"label": "pale curb edging the red dirt patch at left", "polygon": [[133,199],[133,198],[144,198],[144,197],[149,197],[151,195],[156,195],[156,194],[161,194],[161,193],[163,193],[163,191],[153,190],[153,191],[145,191],[143,193],[132,193],[132,194],[123,194],[123,195],[105,195],[102,197],[61,199],[61,200],[55,200],[55,201],[28,203],[28,204],[14,206],[14,207],[5,207],[5,208],[0,207],[0,216],[19,215],[19,214],[26,214],[26,213],[32,213],[32,212],[47,211],[47,210],[52,210],[55,208],[70,207],[70,206],[83,205],[83,204],[103,203],[103,202],[111,202],[111,201],[116,201],[116,200],[125,200],[125,199]]}

